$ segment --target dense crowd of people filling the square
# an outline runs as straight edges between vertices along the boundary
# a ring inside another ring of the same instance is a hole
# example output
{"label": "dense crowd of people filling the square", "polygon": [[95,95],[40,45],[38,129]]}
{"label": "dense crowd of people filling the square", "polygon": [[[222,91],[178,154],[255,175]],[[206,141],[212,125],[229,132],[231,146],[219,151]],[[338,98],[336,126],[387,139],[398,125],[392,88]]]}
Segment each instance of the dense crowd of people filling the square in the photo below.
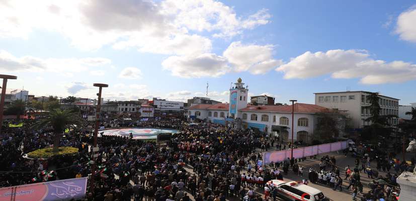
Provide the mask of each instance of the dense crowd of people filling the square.
{"label": "dense crowd of people filling the square", "polygon": [[[0,187],[86,177],[91,173],[89,147],[92,144],[92,125],[62,136],[60,146],[78,148],[76,155],[32,160],[22,155],[51,147],[53,135],[51,128],[34,130],[31,124],[31,120],[27,120],[24,127],[6,130],[0,136],[0,162],[4,164],[0,166]],[[189,201],[193,198],[197,201],[224,201],[238,197],[260,201],[263,198],[257,192],[276,197],[276,190],[265,183],[272,179],[283,180],[289,169],[301,176],[305,183],[309,180],[334,190],[349,189],[353,198],[362,194],[363,200],[376,200],[398,193],[398,188],[394,187],[397,174],[378,176],[367,168],[367,159],[356,160],[354,168],[347,166],[342,169],[337,166],[335,157],[324,156],[320,159],[319,170],[315,170],[301,164],[306,158],[287,158],[264,170],[258,165],[262,156],[256,148],[262,151],[272,147],[285,150],[291,145],[263,133],[208,123],[190,125],[180,120],[169,120],[139,122],[134,126],[171,128],[180,132],[165,145],[129,137],[101,136],[98,139],[100,154],[94,190],[87,192],[87,200]],[[379,171],[389,167],[396,169],[400,165],[397,161],[391,164],[386,158],[377,159]],[[344,179],[340,171],[345,172]],[[360,171],[376,179],[370,182],[369,192],[363,192]],[[349,185],[343,186],[343,180]]]}

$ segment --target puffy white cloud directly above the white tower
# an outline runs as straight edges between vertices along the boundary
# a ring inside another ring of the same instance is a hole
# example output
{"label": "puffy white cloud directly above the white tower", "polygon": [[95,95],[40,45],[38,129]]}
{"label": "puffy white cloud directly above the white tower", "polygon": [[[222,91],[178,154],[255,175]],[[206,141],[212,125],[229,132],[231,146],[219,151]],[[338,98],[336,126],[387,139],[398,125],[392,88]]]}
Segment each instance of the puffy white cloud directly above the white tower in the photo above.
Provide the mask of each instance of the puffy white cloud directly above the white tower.
{"label": "puffy white cloud directly above the white tower", "polygon": [[243,45],[238,41],[231,43],[223,55],[236,72],[264,74],[282,63],[273,59],[272,51],[273,45]]}

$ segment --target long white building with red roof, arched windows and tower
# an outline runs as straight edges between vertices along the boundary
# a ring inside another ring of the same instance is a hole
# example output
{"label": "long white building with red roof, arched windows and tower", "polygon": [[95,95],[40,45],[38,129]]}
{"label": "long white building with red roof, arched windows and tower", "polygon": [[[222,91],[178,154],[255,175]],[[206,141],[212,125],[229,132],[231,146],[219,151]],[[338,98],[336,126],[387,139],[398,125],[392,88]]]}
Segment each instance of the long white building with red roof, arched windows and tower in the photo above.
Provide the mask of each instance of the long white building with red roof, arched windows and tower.
{"label": "long white building with red roof, arched windows and tower", "polygon": [[[291,140],[291,127],[294,121],[293,139],[295,141],[311,142],[316,124],[316,114],[330,113],[338,115],[331,110],[311,104],[295,104],[294,119],[292,120],[292,106],[253,106],[247,105],[248,89],[243,87],[241,79],[235,83],[236,87],[230,89],[230,104],[199,104],[191,106],[188,111],[190,119],[222,124],[242,128],[256,128],[267,133],[279,134],[283,140]],[[234,92],[233,90],[238,90]],[[245,99],[244,99],[245,97]],[[236,111],[234,111],[234,108]],[[237,117],[237,118],[233,118]],[[343,130],[343,129],[342,129]]]}

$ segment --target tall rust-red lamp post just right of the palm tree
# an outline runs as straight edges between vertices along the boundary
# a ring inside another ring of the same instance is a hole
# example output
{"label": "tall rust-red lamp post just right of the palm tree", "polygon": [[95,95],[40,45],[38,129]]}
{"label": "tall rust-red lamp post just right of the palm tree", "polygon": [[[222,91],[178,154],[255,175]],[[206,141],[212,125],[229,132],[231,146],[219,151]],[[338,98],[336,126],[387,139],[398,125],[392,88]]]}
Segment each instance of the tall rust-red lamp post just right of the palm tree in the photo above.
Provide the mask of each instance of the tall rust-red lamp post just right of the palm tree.
{"label": "tall rust-red lamp post just right of the palm tree", "polygon": [[94,86],[99,87],[99,92],[97,93],[98,95],[98,106],[97,106],[97,114],[96,114],[96,126],[95,126],[95,131],[94,131],[94,142],[93,142],[93,164],[91,166],[91,180],[90,180],[90,192],[94,192],[94,176],[95,176],[95,171],[96,171],[96,163],[95,163],[95,158],[97,157],[97,155],[95,155],[95,153],[98,151],[98,147],[97,147],[97,136],[98,136],[98,126],[100,124],[100,105],[101,105],[101,90],[103,87],[108,87],[108,84],[100,84],[100,83],[94,83]]}

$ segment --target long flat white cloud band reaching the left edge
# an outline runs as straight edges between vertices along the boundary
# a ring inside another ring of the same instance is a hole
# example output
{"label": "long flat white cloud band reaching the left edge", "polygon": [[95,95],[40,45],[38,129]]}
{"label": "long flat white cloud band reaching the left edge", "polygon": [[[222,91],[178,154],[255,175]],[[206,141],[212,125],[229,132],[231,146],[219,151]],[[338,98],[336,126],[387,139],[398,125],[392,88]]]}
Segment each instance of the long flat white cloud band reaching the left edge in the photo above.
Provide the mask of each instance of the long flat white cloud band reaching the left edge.
{"label": "long flat white cloud band reaching the left edge", "polygon": [[94,66],[111,63],[107,58],[38,58],[33,56],[16,57],[0,50],[0,69],[5,71],[52,71],[81,72]]}

